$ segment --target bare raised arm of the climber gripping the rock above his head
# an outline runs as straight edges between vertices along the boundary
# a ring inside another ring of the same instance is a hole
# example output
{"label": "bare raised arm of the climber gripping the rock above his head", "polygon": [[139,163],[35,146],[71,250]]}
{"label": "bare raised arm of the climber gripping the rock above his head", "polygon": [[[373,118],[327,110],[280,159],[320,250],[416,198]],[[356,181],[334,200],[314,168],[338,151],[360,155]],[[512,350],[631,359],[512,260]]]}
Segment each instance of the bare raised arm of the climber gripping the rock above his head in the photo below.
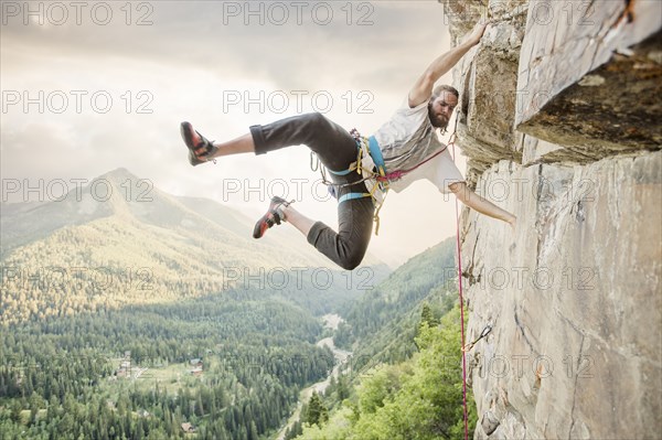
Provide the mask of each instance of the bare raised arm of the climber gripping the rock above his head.
{"label": "bare raised arm of the climber gripping the rock above his head", "polygon": [[450,71],[471,47],[478,44],[488,24],[489,21],[477,23],[465,43],[446,52],[426,68],[409,92],[410,108],[427,101],[433,96],[435,83]]}

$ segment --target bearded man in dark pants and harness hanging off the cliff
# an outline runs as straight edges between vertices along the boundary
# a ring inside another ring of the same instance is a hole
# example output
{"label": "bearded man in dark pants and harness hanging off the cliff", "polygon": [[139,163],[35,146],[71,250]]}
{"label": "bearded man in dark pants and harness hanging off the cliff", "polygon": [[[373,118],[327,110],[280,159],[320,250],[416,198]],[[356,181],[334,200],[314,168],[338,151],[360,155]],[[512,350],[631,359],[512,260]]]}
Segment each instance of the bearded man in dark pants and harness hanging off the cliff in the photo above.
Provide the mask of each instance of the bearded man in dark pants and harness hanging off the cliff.
{"label": "bearded man in dark pants and harness hanging off the cliff", "polygon": [[[429,65],[414,84],[403,107],[372,137],[374,146],[371,147],[376,146],[377,151],[373,150],[371,157],[367,147],[362,147],[365,152],[362,168],[367,164],[367,169],[372,170],[374,162],[381,162],[375,155],[382,155],[388,173],[399,172],[398,178],[388,184],[391,189],[402,191],[415,180],[428,179],[441,192],[452,192],[469,207],[508,222],[514,228],[515,216],[467,187],[462,174],[445,150],[446,146],[437,137],[438,129],[446,129],[459,96],[450,86],[434,89],[434,85],[478,44],[487,24],[478,23],[465,43]],[[227,154],[264,154],[284,147],[308,146],[332,175],[339,198],[338,233],[299,213],[285,200],[274,197],[267,214],[255,225],[254,237],[261,237],[275,224],[288,222],[342,268],[352,270],[359,266],[372,235],[375,203],[370,194],[375,192],[369,191],[369,187],[372,190],[376,182],[364,180],[361,170],[352,169],[357,161],[359,149],[356,140],[346,130],[320,114],[308,114],[265,126],[252,126],[249,133],[228,142],[210,142],[189,122],[182,122],[181,132],[192,165]]]}

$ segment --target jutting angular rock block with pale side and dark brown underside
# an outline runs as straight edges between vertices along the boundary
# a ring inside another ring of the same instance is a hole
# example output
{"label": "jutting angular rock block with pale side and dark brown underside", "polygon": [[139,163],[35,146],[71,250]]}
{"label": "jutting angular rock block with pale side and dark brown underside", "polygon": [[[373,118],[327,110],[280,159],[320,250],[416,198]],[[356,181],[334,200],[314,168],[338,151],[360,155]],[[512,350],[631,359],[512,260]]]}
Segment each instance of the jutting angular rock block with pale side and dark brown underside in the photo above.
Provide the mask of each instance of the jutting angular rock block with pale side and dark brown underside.
{"label": "jutting angular rock block with pale side and dark brown underside", "polygon": [[555,161],[660,149],[662,2],[532,1],[526,28],[517,130],[565,147]]}

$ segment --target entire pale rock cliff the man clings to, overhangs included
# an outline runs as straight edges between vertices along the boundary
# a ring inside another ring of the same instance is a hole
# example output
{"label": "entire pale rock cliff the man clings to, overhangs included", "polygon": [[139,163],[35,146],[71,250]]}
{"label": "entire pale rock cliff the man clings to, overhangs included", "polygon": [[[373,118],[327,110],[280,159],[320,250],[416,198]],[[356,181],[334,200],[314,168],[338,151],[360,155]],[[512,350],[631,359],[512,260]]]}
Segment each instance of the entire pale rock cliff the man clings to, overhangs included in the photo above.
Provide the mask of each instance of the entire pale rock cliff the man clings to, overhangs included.
{"label": "entire pale rock cliff the man clings to, overhangs included", "polygon": [[[482,8],[482,9],[481,9]],[[462,213],[474,439],[662,432],[662,2],[445,0],[476,191]]]}

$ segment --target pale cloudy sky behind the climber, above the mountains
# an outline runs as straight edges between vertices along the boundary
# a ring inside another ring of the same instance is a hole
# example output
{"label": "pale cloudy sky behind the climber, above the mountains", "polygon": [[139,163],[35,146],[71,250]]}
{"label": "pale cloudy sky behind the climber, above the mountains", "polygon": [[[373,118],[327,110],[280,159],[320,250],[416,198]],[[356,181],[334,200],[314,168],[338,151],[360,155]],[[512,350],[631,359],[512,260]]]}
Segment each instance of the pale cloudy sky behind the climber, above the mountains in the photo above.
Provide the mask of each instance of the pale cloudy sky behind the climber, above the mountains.
{"label": "pale cloudy sky behind the climber, above the mountains", "polygon": [[[433,0],[0,4],[3,202],[55,200],[62,182],[126,168],[256,218],[281,195],[335,226],[306,147],[193,168],[180,122],[223,141],[320,111],[370,135],[450,46]],[[459,150],[457,164],[466,171]],[[427,181],[391,192],[369,251],[399,265],[455,235],[455,198]]]}

